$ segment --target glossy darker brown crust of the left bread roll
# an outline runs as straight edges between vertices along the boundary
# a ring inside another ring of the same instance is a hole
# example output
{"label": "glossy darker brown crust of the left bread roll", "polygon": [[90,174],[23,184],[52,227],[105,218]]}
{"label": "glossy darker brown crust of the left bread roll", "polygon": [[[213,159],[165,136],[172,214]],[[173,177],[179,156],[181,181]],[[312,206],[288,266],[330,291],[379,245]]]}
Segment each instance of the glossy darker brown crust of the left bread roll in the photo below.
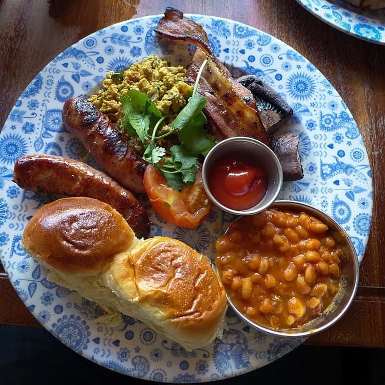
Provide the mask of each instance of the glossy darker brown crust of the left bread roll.
{"label": "glossy darker brown crust of the left bread roll", "polygon": [[65,198],[43,206],[23,233],[23,247],[64,273],[98,275],[132,246],[135,234],[111,206]]}

